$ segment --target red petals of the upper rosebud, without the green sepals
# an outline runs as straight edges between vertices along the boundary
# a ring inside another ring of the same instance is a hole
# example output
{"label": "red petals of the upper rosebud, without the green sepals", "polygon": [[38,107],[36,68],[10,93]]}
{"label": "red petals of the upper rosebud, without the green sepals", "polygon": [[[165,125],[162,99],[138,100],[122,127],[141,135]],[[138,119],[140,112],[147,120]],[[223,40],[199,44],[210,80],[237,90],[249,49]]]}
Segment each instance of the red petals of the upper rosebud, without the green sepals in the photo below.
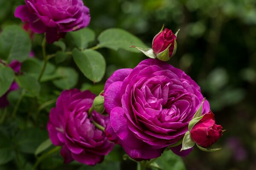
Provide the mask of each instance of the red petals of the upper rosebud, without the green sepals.
{"label": "red petals of the upper rosebud, without the green sepals", "polygon": [[172,30],[165,28],[162,32],[157,34],[157,36],[153,40],[152,49],[154,51],[154,54],[157,55],[160,52],[165,51],[166,48],[168,48],[168,46],[172,44],[169,47],[169,57],[172,57],[176,39],[177,37],[175,34],[173,34]]}

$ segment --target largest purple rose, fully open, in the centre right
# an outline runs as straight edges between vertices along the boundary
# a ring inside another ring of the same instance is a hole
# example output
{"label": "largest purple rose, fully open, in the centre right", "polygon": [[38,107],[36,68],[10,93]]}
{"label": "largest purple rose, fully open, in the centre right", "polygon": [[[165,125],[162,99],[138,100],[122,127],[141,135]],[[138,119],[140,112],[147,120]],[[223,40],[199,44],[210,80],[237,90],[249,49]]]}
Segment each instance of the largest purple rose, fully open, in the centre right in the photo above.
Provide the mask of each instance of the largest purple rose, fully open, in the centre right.
{"label": "largest purple rose, fully open, in the centre right", "polygon": [[[134,69],[120,69],[105,84],[105,132],[136,160],[152,159],[179,141],[204,97],[183,71],[158,59],[146,59]],[[204,102],[203,113],[209,111]],[[185,156],[190,150],[174,153]]]}

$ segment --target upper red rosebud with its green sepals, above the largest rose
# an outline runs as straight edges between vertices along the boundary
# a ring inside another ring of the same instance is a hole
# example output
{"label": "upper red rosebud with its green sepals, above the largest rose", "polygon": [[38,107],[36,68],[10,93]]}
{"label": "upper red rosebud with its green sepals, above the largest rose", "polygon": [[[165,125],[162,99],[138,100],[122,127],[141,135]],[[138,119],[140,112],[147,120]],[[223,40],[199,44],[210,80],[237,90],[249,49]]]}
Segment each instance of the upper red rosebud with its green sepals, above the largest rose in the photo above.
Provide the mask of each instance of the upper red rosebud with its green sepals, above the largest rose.
{"label": "upper red rosebud with its green sepals, above the largest rose", "polygon": [[160,31],[153,40],[152,49],[157,58],[162,61],[168,61],[176,53],[177,37],[172,30],[165,28]]}

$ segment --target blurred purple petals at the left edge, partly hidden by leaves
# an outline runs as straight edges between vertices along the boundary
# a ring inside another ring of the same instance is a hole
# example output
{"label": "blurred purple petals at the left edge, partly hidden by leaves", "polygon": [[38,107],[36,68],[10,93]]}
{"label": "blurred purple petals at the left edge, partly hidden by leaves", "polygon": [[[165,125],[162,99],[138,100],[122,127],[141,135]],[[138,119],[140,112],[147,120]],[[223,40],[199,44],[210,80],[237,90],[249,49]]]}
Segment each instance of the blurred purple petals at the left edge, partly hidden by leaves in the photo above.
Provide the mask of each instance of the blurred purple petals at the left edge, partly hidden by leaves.
{"label": "blurred purple petals at the left edge, partly hidden by leaves", "polygon": [[[21,63],[18,62],[17,60],[13,60],[8,66],[12,68],[15,74],[18,74],[20,72]],[[9,88],[9,90],[3,96],[0,97],[0,108],[5,108],[6,106],[9,105],[9,102],[7,100],[7,95],[11,91],[17,90],[18,88],[19,88],[19,85],[17,84],[17,82],[12,82],[12,85]]]}

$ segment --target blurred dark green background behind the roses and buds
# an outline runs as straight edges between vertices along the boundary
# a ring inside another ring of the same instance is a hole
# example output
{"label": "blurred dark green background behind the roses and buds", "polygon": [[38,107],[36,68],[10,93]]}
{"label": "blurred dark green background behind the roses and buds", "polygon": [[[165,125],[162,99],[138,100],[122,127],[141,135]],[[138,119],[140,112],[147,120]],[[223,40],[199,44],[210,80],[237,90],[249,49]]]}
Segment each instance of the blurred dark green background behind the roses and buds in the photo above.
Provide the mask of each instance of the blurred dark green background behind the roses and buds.
{"label": "blurred dark green background behind the roses and buds", "polygon": [[[13,14],[23,0],[0,0],[0,26],[20,23]],[[227,131],[205,153],[195,148],[183,158],[187,170],[255,170],[256,168],[256,1],[255,0],[84,0],[89,28],[96,35],[123,28],[149,47],[162,25],[176,32],[177,53],[169,63],[200,86],[217,124]],[[36,40],[35,40],[36,41]],[[40,56],[40,42],[34,51]],[[96,44],[96,42],[94,42]],[[119,68],[134,68],[143,54],[100,49],[107,60],[105,80]],[[70,59],[64,65],[74,65]],[[81,76],[80,76],[81,77]],[[77,88],[86,88],[79,79]],[[125,169],[125,168],[124,168]]]}

